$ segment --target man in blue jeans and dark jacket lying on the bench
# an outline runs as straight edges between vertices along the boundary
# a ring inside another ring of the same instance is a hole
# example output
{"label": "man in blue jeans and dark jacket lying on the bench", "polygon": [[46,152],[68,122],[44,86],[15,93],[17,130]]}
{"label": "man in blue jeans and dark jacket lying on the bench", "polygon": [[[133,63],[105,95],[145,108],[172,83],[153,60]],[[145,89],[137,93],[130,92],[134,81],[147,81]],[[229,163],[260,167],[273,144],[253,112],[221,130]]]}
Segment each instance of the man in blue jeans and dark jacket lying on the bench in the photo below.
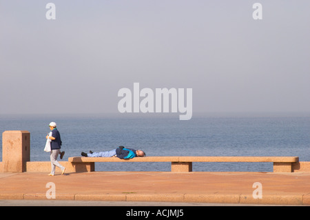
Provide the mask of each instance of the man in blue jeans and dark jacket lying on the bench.
{"label": "man in blue jeans and dark jacket lying on the bench", "polygon": [[123,146],[119,146],[118,148],[110,151],[90,151],[89,154],[81,152],[81,155],[83,157],[118,157],[119,159],[130,159],[134,157],[145,157],[145,152],[143,152],[142,150],[134,150],[131,148],[124,148]]}

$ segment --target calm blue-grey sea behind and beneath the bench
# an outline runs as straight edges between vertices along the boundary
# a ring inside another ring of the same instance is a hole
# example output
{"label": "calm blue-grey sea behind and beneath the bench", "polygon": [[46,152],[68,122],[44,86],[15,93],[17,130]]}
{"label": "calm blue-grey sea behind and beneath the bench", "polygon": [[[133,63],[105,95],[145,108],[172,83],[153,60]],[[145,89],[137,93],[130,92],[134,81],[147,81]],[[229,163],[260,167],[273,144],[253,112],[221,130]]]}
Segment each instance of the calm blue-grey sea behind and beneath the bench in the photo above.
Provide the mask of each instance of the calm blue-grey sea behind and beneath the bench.
{"label": "calm blue-grey sea behind and beneath the bench", "polygon": [[[63,160],[81,151],[112,150],[120,145],[147,156],[297,156],[310,161],[310,117],[105,117],[0,116],[2,132],[30,132],[30,160],[49,161],[44,152],[48,124],[58,124]],[[60,159],[59,159],[60,160]],[[170,163],[96,163],[96,171],[169,171]],[[272,163],[193,163],[193,171],[272,172]]]}

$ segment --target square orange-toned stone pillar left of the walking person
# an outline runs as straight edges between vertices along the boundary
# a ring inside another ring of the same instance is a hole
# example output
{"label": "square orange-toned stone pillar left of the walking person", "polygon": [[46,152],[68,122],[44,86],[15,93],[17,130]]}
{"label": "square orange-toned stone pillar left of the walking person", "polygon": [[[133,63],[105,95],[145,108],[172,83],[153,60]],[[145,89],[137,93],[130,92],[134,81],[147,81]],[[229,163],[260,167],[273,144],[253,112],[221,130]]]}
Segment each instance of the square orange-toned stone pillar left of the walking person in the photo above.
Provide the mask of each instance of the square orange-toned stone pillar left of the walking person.
{"label": "square orange-toned stone pillar left of the walking person", "polygon": [[3,172],[25,172],[26,161],[30,161],[30,132],[26,130],[3,132]]}

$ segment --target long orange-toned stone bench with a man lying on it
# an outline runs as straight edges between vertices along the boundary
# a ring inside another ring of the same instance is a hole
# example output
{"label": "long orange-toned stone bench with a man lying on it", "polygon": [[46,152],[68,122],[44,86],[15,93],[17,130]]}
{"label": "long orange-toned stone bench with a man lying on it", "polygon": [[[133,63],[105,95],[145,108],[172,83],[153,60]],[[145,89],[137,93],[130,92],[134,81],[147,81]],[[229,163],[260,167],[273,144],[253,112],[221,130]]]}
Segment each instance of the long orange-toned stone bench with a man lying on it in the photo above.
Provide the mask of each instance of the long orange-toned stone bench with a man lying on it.
{"label": "long orange-toned stone bench with a man lying on it", "polygon": [[95,162],[171,162],[172,172],[192,172],[192,162],[272,162],[273,172],[292,172],[293,163],[298,157],[69,157],[68,161],[76,172],[94,171]]}

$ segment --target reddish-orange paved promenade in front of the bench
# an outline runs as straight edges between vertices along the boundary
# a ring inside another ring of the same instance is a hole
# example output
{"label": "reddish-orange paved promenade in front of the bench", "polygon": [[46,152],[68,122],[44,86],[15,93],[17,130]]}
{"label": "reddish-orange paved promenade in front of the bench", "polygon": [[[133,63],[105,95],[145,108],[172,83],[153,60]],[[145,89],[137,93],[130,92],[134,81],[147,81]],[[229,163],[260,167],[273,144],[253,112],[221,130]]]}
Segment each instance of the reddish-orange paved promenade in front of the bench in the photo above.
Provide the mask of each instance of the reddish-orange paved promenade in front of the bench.
{"label": "reddish-orange paved promenade in front of the bench", "polygon": [[310,172],[0,172],[1,200],[46,200],[47,192],[71,201],[310,206]]}

